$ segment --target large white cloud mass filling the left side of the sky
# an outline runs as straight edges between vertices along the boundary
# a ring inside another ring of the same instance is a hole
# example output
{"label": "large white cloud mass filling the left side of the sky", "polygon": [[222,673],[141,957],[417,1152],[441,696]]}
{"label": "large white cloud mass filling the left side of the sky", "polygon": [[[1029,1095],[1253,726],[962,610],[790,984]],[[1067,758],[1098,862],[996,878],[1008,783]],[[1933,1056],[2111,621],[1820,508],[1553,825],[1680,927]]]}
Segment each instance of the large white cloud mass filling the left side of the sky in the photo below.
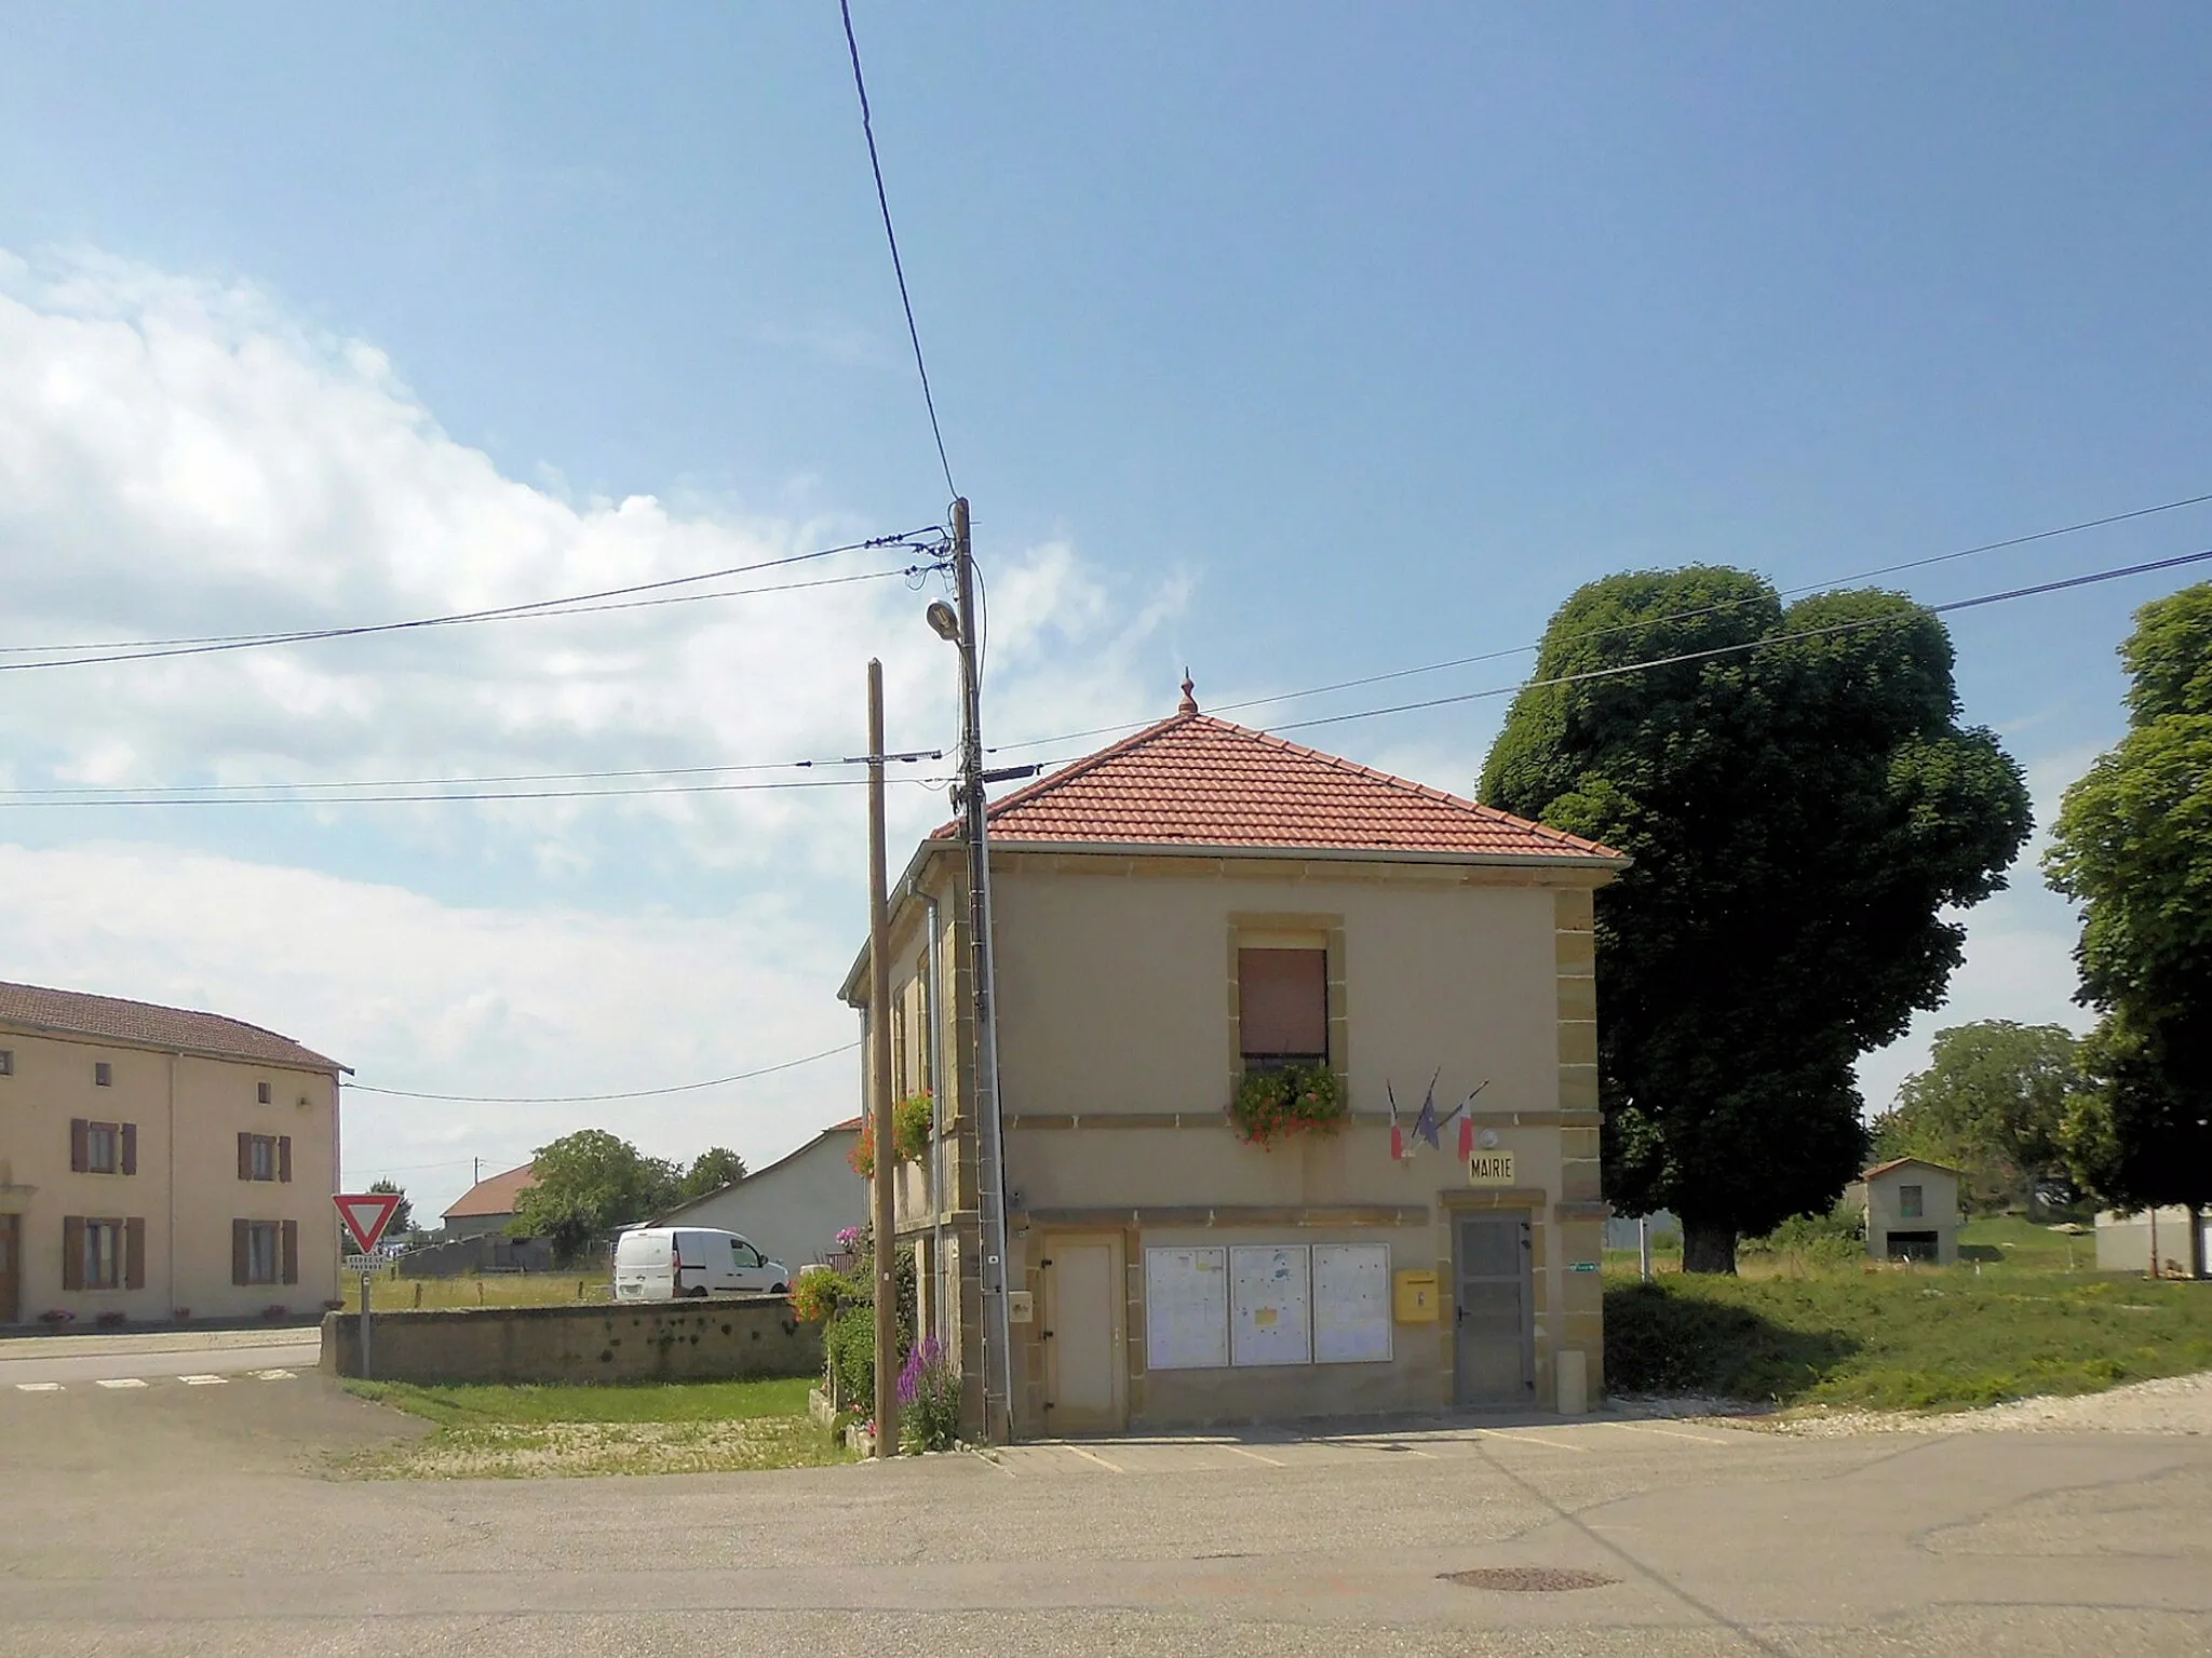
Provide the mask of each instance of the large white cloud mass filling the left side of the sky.
{"label": "large white cloud mass filling the left side of the sky", "polygon": [[[389,621],[880,528],[644,495],[568,500],[557,475],[538,489],[456,444],[374,345],[305,327],[252,285],[0,250],[0,646]],[[854,568],[872,566],[830,559],[787,575]],[[1126,592],[1068,542],[993,550],[989,573],[993,718],[1071,730],[1166,712],[1168,685],[1139,692],[1135,663],[1181,586]],[[845,756],[865,747],[872,654],[885,663],[891,743],[949,743],[956,661],[920,608],[894,577],[0,672],[0,783]],[[252,1019],[394,1088],[591,1094],[730,1074],[852,1037],[834,993],[865,909],[860,800],[799,789],[201,818],[0,807],[11,893],[0,977]],[[891,811],[894,860],[947,816],[942,794],[914,787],[891,791]],[[319,833],[294,831],[305,825]],[[84,840],[51,844],[60,833]],[[18,838],[27,844],[9,844]],[[635,895],[639,871],[650,900]],[[427,895],[471,878],[524,900]],[[467,1183],[471,1154],[520,1158],[582,1125],[661,1154],[719,1141],[768,1158],[847,1114],[854,1077],[856,1061],[830,1059],[613,1105],[356,1094],[347,1176],[398,1172],[434,1211]]]}

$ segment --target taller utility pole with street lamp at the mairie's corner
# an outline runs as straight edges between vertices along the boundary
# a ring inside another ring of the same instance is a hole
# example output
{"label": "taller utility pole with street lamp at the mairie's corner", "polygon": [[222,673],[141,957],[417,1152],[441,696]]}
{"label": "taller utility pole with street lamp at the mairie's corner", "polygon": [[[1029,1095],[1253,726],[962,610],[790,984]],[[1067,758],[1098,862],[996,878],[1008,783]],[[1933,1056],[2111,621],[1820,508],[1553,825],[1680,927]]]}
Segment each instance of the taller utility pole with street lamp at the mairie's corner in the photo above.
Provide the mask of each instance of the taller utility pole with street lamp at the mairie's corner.
{"label": "taller utility pole with street lamp at the mairie's corner", "polygon": [[[969,984],[975,1024],[975,1185],[982,1220],[984,1439],[1013,1437],[1013,1324],[1006,1309],[1006,1136],[998,1110],[998,979],[991,951],[991,851],[982,769],[982,663],[967,497],[953,500],[953,597],[960,601],[960,807],[969,856]],[[1026,776],[1035,767],[1022,767]],[[998,1406],[993,1415],[993,1404]]]}

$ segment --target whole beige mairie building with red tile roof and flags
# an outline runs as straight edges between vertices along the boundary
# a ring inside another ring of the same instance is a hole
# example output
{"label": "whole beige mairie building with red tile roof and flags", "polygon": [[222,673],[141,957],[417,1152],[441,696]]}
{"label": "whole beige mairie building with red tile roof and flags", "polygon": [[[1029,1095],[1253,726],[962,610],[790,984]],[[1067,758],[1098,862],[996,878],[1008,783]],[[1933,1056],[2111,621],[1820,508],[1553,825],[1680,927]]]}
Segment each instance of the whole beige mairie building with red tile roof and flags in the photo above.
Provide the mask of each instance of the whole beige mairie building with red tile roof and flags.
{"label": "whole beige mairie building with red tile roof and flags", "polygon": [[[991,807],[1011,1433],[1601,1391],[1590,900],[1626,860],[1188,690]],[[967,1430],[998,1437],[964,886],[947,827],[894,900],[896,1090],[938,1116],[898,1229]],[[867,984],[863,951],[845,999]],[[1228,1105],[1285,1063],[1334,1074],[1349,1121],[1265,1150]],[[1469,1101],[1436,1147],[1413,1134],[1431,1085],[1438,1114]]]}

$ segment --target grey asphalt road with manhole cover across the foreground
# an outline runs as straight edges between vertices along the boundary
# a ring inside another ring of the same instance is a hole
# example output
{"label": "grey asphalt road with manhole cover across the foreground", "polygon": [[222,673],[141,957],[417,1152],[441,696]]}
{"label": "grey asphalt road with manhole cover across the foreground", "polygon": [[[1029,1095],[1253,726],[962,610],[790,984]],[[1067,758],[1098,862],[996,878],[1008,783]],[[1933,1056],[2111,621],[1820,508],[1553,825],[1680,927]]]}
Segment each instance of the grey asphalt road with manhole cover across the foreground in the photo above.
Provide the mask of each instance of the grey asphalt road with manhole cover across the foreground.
{"label": "grey asphalt road with manhole cover across the foreground", "polygon": [[[15,1654],[2212,1651],[2212,1439],[1677,1421],[345,1481],[299,1373],[0,1391]],[[1449,1574],[1579,1572],[1577,1589]]]}

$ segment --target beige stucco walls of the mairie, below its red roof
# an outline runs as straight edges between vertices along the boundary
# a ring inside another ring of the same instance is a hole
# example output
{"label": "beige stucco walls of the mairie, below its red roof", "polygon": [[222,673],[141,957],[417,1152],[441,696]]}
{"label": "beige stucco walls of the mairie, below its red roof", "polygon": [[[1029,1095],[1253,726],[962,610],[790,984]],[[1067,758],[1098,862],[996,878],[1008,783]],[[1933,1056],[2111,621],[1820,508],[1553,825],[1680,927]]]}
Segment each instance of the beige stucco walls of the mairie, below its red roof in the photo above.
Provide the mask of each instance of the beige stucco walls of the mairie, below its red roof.
{"label": "beige stucco walls of the mairie, below its red roof", "polygon": [[[1002,1110],[1013,1209],[1011,1278],[1044,1313],[1042,1260],[1064,1236],[1121,1238],[1130,1278],[1130,1424],[1436,1408],[1451,1402],[1451,1218],[1462,1207],[1533,1222],[1535,1404],[1553,1357],[1577,1349],[1604,1391],[1604,1207],[1597,1163],[1597,1024],[1590,889],[1601,871],[1356,860],[1241,860],[993,851]],[[956,1262],[945,1320],[971,1366],[978,1247],[967,1116],[967,937],[960,869],[925,867],[940,895],[940,1108],[953,1134],[942,1203],[900,1178],[900,1231],[945,1227]],[[1325,937],[1332,1059],[1354,1121],[1334,1138],[1265,1152],[1223,1108],[1239,1074],[1237,940]],[[894,935],[900,1092],[918,1085],[920,906]],[[865,999],[865,975],[849,986]],[[911,1054],[911,1057],[909,1057]],[[1442,1108],[1478,1083],[1475,1121],[1515,1154],[1515,1189],[1469,1189],[1455,1156],[1391,1161],[1389,1085],[1407,1127],[1431,1074]],[[1194,1216],[1197,1209],[1219,1214]],[[1389,1242],[1394,1269],[1433,1269],[1438,1324],[1402,1326],[1389,1364],[1170,1371],[1144,1364],[1144,1249],[1166,1242]],[[925,1291],[927,1295],[927,1291]],[[1037,1324],[1015,1326],[1018,1433],[1046,1428]],[[973,1391],[973,1388],[971,1388]],[[973,1413],[971,1413],[973,1415]],[[971,1430],[975,1424],[971,1424]]]}

